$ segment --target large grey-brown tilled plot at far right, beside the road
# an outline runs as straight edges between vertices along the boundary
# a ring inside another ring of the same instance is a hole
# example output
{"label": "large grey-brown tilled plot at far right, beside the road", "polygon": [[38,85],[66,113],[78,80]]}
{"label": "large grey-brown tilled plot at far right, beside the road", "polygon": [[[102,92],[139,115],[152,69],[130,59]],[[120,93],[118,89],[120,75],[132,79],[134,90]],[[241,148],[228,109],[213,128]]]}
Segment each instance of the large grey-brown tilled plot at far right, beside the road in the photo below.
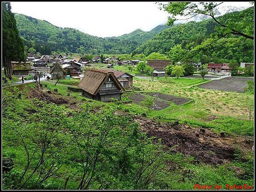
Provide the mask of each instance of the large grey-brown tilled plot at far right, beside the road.
{"label": "large grey-brown tilled plot at far right, beside the road", "polygon": [[200,85],[198,87],[203,89],[236,91],[238,93],[244,93],[244,88],[247,87],[247,83],[220,79]]}

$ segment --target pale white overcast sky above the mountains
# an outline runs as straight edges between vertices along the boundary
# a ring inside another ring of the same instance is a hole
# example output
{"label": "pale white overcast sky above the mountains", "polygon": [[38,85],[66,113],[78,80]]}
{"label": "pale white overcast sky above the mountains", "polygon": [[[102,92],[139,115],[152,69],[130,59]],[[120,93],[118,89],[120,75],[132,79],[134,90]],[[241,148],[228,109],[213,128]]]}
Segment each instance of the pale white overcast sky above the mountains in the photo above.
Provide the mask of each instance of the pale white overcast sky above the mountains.
{"label": "pale white overcast sky above the mountains", "polygon": [[[46,20],[58,27],[76,28],[98,37],[150,31],[165,24],[168,14],[154,2],[11,2],[12,12]],[[249,7],[249,2],[222,6]]]}

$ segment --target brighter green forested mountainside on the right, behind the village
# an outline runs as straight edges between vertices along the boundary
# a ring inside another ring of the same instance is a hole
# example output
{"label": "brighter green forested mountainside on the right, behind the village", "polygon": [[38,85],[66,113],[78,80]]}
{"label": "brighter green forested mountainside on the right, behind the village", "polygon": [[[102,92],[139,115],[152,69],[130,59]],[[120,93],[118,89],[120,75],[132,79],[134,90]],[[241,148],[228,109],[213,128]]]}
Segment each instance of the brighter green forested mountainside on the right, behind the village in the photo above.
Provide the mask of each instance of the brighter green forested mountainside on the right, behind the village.
{"label": "brighter green forested mountainside on the right, behind the village", "polygon": [[[243,11],[247,14],[253,14],[253,7]],[[238,13],[239,11],[233,14]],[[175,45],[181,45],[184,50],[191,50],[202,42],[207,42],[212,33],[218,32],[215,31],[215,26],[216,23],[211,19],[175,25],[161,31],[151,40],[138,46],[135,52],[145,55],[153,52],[170,54],[169,51],[175,47]],[[215,62],[218,62],[217,58],[253,62],[253,40],[231,34],[230,36],[216,40],[211,46],[204,50],[195,52],[195,59],[206,60],[207,58]]]}

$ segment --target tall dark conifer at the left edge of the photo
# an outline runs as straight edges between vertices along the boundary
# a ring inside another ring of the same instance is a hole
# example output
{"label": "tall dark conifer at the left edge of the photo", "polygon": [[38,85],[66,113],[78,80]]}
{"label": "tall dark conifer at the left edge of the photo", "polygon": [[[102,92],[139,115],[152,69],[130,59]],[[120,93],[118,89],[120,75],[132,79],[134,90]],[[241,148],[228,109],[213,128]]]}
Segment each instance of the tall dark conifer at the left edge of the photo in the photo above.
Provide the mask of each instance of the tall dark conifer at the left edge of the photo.
{"label": "tall dark conifer at the left edge of the photo", "polygon": [[19,36],[14,14],[11,11],[10,2],[2,2],[2,46],[3,67],[6,68],[6,76],[11,78],[11,61],[26,61],[23,41]]}

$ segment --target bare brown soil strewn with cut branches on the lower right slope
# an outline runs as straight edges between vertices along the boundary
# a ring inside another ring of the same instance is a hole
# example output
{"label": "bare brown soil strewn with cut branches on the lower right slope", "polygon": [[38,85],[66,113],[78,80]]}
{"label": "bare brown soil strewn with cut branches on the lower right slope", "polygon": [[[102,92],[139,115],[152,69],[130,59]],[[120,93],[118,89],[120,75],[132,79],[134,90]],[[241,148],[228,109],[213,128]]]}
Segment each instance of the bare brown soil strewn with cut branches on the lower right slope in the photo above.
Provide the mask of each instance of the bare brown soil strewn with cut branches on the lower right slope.
{"label": "bare brown soil strewn with cut branches on the lower right slope", "polygon": [[141,130],[149,137],[156,137],[155,141],[162,138],[166,150],[193,156],[196,162],[212,165],[224,164],[235,158],[235,145],[242,152],[250,151],[253,146],[253,141],[248,144],[246,138],[242,136],[221,138],[212,130],[202,130],[205,131],[204,133],[199,128],[178,122],[157,123],[140,116],[134,116],[134,121],[139,122]]}

